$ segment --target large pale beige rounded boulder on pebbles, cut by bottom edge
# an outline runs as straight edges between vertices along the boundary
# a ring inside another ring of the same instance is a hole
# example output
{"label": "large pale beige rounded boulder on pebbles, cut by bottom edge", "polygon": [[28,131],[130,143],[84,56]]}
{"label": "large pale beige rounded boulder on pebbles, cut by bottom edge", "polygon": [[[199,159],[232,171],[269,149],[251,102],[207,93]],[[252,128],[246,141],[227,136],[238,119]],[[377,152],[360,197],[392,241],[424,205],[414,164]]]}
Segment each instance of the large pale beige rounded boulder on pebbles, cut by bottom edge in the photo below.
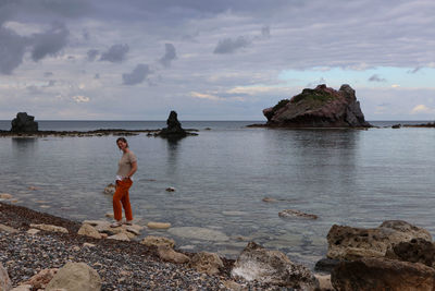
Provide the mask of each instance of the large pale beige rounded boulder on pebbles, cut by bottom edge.
{"label": "large pale beige rounded boulder on pebbles, cut by bottom edge", "polygon": [[46,291],[66,289],[69,291],[101,290],[98,272],[85,263],[66,263],[47,284]]}

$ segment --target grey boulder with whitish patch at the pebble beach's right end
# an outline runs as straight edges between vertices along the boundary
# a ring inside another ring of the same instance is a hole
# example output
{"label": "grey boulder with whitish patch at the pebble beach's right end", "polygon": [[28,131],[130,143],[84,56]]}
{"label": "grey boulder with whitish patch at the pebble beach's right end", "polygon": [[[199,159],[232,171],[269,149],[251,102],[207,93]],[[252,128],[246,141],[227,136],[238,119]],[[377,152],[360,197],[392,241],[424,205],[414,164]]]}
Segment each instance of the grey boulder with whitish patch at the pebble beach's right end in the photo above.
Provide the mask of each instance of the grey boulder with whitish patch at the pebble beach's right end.
{"label": "grey boulder with whitish patch at the pebble beach's right end", "polygon": [[279,251],[265,250],[250,242],[234,264],[232,276],[300,290],[314,290],[319,282],[302,265],[294,264]]}

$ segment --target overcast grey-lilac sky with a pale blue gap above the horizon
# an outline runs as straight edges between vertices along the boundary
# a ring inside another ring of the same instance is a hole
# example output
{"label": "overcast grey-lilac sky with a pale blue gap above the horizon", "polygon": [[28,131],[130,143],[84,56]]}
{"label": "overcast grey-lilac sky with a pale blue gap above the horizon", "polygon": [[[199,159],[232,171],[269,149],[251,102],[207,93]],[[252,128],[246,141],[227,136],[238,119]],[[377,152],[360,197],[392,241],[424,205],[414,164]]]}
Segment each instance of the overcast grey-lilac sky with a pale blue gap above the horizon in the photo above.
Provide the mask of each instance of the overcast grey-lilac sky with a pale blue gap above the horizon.
{"label": "overcast grey-lilac sky with a pale blue gap above the horizon", "polygon": [[368,120],[435,119],[433,0],[0,0],[0,119],[264,120],[349,84]]}

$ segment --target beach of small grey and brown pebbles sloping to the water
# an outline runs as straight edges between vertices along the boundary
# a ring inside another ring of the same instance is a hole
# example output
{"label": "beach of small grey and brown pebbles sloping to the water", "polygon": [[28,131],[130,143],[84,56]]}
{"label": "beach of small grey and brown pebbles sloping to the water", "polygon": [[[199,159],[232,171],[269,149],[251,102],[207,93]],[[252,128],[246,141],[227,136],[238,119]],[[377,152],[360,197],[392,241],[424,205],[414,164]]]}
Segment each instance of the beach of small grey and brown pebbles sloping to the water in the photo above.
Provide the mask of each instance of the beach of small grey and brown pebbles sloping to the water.
{"label": "beach of small grey and brown pebbles sloping to the water", "polygon": [[[27,230],[32,223],[64,227],[69,233],[29,234]],[[157,250],[139,242],[78,235],[79,222],[22,206],[0,202],[0,225],[17,230],[0,230],[0,263],[8,270],[13,287],[42,269],[61,268],[67,262],[75,262],[98,271],[101,290],[234,290],[228,283],[236,283],[244,290],[283,290],[259,282],[236,282],[229,275],[232,259],[222,258],[224,268],[219,275],[209,276],[184,264],[162,262]],[[86,243],[94,246],[86,246]]]}

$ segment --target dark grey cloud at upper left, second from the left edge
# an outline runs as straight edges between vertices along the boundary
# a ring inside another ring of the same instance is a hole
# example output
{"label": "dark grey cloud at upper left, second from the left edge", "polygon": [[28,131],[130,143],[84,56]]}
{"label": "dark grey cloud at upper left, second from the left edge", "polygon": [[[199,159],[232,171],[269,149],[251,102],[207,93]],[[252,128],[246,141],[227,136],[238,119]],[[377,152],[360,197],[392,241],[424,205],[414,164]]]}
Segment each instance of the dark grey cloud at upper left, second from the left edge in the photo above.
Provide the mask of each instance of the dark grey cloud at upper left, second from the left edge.
{"label": "dark grey cloud at upper left, second from the left edge", "polygon": [[57,56],[67,44],[70,31],[62,23],[53,23],[51,28],[42,34],[34,34],[30,38],[32,59],[39,61],[47,56]]}

